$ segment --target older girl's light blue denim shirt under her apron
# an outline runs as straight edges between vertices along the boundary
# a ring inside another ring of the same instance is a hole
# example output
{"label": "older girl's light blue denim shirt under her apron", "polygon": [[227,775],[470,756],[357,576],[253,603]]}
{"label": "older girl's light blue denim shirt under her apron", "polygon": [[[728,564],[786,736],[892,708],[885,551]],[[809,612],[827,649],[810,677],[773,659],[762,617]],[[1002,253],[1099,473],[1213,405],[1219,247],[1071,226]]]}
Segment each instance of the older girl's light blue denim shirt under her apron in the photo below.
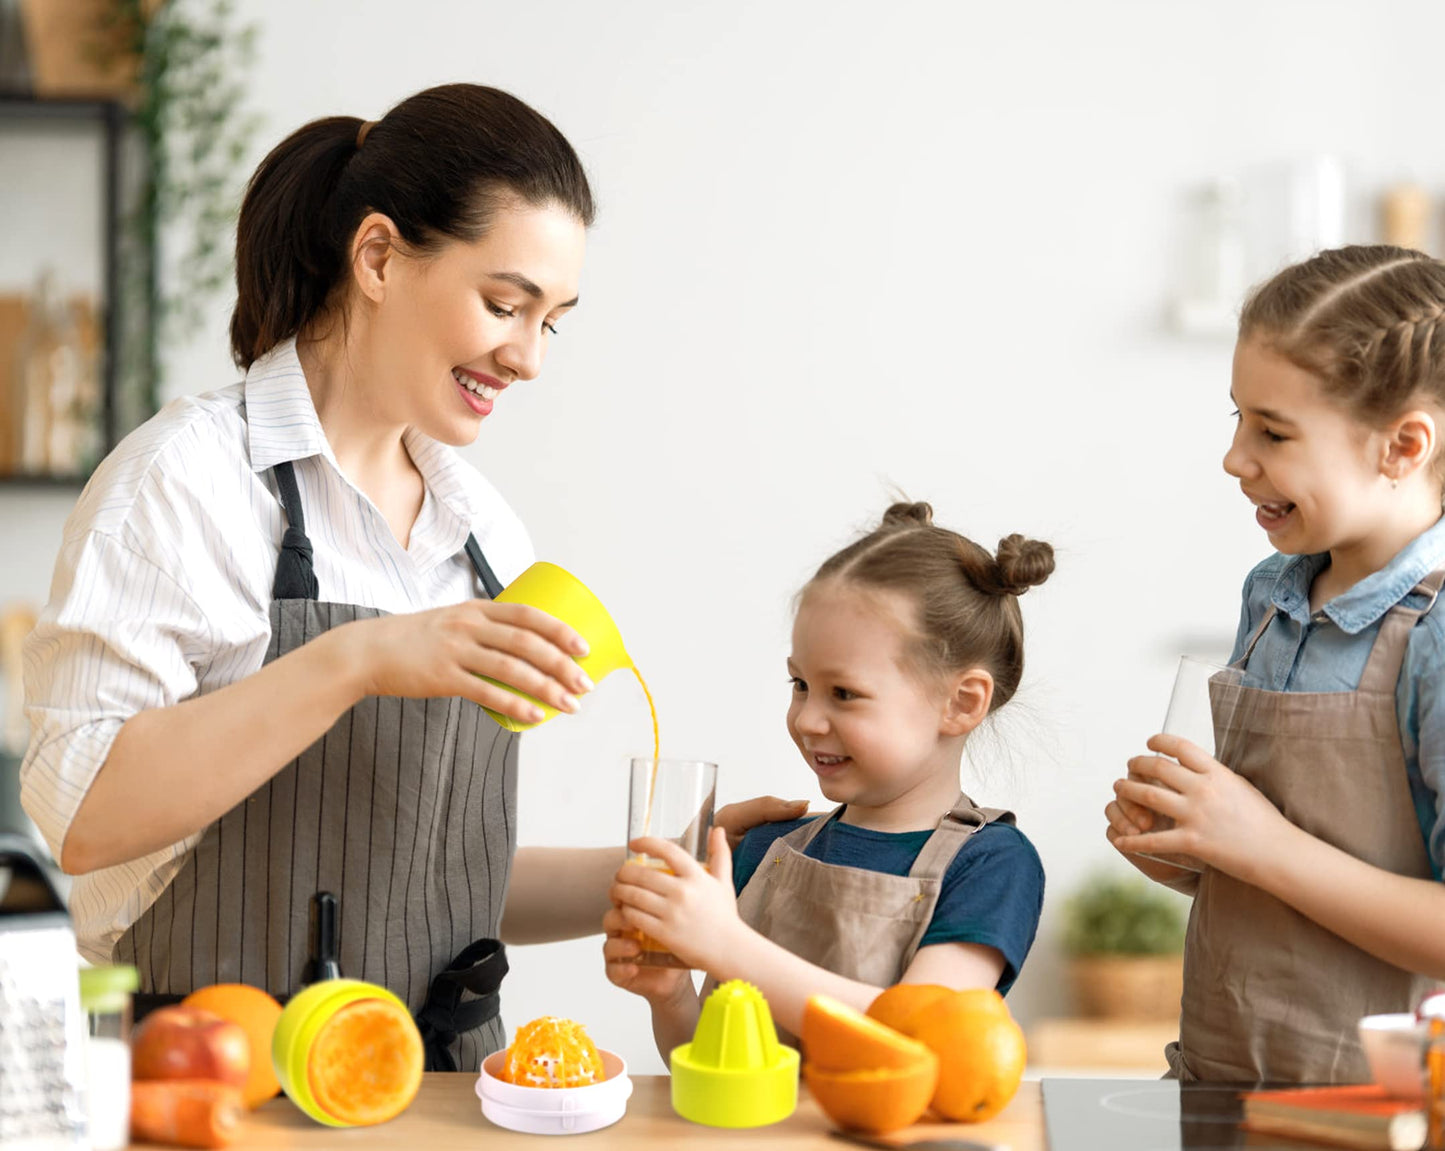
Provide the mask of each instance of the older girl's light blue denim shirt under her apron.
{"label": "older girl's light blue denim shirt under her apron", "polygon": [[[1445,566],[1445,518],[1416,536],[1384,568],[1366,576],[1319,611],[1309,611],[1309,585],[1329,563],[1328,555],[1274,553],[1244,579],[1244,607],[1231,661],[1273,604],[1277,608],[1250,656],[1244,682],[1272,692],[1353,692],[1384,614],[1410,589]],[[1445,595],[1441,596],[1445,599]],[[1400,745],[1410,796],[1435,878],[1445,872],[1445,605],[1436,604],[1415,625],[1394,689]]]}

